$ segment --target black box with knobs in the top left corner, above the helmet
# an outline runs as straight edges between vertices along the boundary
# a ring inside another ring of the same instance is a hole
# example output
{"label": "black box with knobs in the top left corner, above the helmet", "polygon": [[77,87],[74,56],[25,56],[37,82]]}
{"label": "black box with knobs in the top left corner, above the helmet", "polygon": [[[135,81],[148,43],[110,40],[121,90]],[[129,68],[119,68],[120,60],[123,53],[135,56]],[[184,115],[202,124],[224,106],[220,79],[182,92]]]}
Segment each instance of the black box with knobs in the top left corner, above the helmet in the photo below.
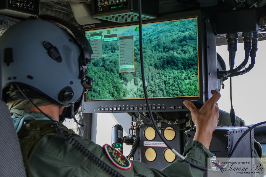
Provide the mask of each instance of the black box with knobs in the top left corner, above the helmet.
{"label": "black box with knobs in the top left corner, above the helmet", "polygon": [[0,14],[25,18],[39,14],[39,0],[1,0]]}

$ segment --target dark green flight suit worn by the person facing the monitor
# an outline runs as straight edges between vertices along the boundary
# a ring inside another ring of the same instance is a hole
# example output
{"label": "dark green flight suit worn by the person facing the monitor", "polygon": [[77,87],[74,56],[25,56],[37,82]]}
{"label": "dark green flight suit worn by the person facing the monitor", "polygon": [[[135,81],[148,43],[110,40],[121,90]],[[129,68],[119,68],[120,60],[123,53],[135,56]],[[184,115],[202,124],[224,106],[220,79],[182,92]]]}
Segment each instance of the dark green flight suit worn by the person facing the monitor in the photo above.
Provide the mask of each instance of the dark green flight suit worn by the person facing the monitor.
{"label": "dark green flight suit worn by the person facing the monitor", "polygon": [[[22,110],[21,110],[22,111]],[[32,113],[30,113],[32,114]],[[21,114],[22,115],[22,114]],[[18,114],[17,114],[18,116]],[[42,114],[34,112],[36,119],[43,118]],[[44,124],[52,124],[52,121],[47,120],[27,120],[27,123],[21,127],[18,132],[20,145],[25,164],[29,164],[30,173],[34,177],[83,177],[97,176],[106,177],[108,174],[97,167],[91,160],[88,160],[77,149],[75,149],[68,141],[58,133],[49,132],[48,135],[42,133]],[[40,126],[43,125],[43,126]],[[61,125],[63,127],[64,125]],[[54,127],[53,127],[54,128]],[[74,132],[73,132],[74,134]],[[41,137],[41,138],[40,138]],[[34,142],[27,141],[27,138]],[[132,161],[133,168],[122,170],[117,168],[107,157],[103,147],[96,145],[94,142],[83,139],[77,135],[74,138],[82,145],[89,149],[94,155],[100,158],[103,162],[111,166],[117,172],[126,177],[200,177],[203,176],[203,171],[190,166],[183,160],[176,160],[171,165],[164,168],[162,171],[148,168],[145,164]],[[23,150],[24,149],[24,150]],[[27,153],[25,153],[25,149]],[[23,153],[24,152],[24,153]],[[207,167],[207,158],[212,157],[212,153],[198,141],[190,141],[186,144],[184,150],[185,157],[200,165]],[[30,174],[27,174],[30,176]]]}

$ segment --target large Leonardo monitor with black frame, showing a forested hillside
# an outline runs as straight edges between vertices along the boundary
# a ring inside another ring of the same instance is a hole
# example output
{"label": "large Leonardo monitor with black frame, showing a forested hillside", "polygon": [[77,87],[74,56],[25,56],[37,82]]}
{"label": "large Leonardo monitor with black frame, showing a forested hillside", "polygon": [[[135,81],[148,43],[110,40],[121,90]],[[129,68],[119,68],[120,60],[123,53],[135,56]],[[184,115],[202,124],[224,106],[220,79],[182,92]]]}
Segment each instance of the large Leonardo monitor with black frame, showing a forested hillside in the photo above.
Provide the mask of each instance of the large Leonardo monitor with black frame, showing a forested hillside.
{"label": "large Leonardo monitor with black frame, showing a forested hillside", "polygon": [[[202,105],[208,97],[208,86],[203,84],[207,83],[203,20],[197,11],[143,22],[145,82],[152,111],[187,111],[185,99]],[[136,23],[83,26],[93,49],[87,68],[93,91],[87,92],[82,103],[85,113],[147,112]]]}

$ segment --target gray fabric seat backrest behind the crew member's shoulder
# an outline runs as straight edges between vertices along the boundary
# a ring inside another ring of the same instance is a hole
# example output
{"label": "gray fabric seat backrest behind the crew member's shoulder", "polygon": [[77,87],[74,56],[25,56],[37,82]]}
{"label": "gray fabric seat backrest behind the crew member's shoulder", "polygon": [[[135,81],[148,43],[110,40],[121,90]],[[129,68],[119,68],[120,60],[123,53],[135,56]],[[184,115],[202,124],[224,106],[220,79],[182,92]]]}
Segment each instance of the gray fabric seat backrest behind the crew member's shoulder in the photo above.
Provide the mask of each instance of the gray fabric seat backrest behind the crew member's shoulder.
{"label": "gray fabric seat backrest behind the crew member's shoulder", "polygon": [[6,103],[0,100],[0,176],[26,177],[17,133]]}

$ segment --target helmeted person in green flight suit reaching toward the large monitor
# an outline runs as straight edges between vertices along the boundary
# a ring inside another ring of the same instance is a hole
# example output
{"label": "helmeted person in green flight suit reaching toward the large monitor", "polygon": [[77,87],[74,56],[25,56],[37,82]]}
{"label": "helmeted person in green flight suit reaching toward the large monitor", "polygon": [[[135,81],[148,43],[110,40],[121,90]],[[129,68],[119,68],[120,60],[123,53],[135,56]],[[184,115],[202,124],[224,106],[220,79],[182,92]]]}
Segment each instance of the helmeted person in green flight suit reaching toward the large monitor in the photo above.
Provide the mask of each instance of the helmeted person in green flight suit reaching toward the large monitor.
{"label": "helmeted person in green flight suit reaching toward the large monitor", "polygon": [[[64,108],[75,112],[91,89],[85,68],[91,47],[74,26],[50,16],[31,17],[0,37],[3,96],[18,133],[27,176],[202,176],[177,160],[162,171],[128,161],[116,150],[77,136],[59,122]],[[208,150],[219,118],[218,91],[197,109],[184,101],[197,125],[184,156],[207,167]],[[70,108],[70,109],[69,109]]]}

